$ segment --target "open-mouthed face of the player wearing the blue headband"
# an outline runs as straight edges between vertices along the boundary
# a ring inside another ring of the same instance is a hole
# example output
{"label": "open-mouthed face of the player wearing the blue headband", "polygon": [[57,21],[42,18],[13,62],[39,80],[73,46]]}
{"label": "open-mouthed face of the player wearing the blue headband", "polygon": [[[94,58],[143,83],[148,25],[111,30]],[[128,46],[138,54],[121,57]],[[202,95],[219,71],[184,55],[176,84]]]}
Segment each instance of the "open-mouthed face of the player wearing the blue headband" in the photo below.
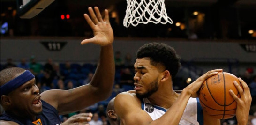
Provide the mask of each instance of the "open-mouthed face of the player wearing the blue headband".
{"label": "open-mouthed face of the player wearing the blue headband", "polygon": [[21,85],[10,94],[12,108],[23,117],[34,117],[42,112],[39,89],[35,78]]}

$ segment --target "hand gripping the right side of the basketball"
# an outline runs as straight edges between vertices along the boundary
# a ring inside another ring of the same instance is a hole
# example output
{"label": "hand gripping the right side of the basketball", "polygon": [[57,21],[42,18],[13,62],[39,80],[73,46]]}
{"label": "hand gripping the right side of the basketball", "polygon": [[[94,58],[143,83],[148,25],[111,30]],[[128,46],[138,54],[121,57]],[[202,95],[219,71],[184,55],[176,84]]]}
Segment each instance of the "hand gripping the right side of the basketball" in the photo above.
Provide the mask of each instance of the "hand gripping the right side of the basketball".
{"label": "hand gripping the right side of the basketball", "polygon": [[238,125],[247,125],[252,97],[247,84],[241,78],[238,78],[238,80],[242,84],[243,89],[236,81],[234,81],[233,83],[237,88],[241,98],[238,98],[238,96],[236,96],[232,90],[229,90],[229,93],[231,94],[231,96],[233,96],[233,99],[237,103],[236,119]]}

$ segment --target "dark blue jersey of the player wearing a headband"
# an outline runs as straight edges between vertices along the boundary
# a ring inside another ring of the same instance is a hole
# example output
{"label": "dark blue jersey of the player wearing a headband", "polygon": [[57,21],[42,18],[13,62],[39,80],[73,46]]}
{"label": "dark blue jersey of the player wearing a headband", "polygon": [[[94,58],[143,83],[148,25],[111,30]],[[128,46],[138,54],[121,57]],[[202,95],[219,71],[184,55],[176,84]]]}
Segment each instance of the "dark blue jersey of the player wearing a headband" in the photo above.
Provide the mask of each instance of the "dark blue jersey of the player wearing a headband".
{"label": "dark blue jersey of the player wearing a headband", "polygon": [[15,115],[4,112],[1,116],[1,120],[13,121],[20,125],[60,125],[61,120],[58,115],[58,111],[50,104],[41,100],[43,111],[42,114],[36,117],[36,121],[30,119],[19,118]]}

